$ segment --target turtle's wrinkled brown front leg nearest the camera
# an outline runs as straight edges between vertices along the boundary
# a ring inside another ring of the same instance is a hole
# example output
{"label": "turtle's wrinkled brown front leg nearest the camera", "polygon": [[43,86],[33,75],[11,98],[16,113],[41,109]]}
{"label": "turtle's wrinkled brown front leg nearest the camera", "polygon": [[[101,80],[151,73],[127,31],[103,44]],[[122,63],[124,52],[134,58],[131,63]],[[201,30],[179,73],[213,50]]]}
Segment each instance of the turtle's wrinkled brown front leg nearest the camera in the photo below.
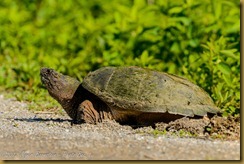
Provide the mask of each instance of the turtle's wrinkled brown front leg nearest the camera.
{"label": "turtle's wrinkled brown front leg nearest the camera", "polygon": [[89,100],[83,101],[80,104],[78,111],[78,113],[81,116],[81,119],[84,120],[85,123],[97,124],[98,122],[101,122],[99,113],[93,107],[92,102]]}

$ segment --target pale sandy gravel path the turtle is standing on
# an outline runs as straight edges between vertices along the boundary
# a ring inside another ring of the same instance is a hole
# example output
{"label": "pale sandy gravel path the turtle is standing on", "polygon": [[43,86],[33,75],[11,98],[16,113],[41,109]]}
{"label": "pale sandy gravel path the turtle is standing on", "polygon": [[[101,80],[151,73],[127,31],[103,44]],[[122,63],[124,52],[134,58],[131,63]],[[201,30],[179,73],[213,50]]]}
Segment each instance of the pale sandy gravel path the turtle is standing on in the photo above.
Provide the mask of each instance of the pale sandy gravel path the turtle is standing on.
{"label": "pale sandy gravel path the turtle is standing on", "polygon": [[113,121],[71,126],[66,115],[33,113],[1,95],[0,125],[2,160],[240,160],[240,141],[155,137]]}

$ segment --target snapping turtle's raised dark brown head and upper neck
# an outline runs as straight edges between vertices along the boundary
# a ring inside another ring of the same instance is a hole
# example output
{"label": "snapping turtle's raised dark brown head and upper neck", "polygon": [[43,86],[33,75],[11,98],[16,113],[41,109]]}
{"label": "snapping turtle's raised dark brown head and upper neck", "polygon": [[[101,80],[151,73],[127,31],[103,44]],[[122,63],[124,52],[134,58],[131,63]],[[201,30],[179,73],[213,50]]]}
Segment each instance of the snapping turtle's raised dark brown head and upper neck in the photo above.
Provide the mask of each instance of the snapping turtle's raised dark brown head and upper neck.
{"label": "snapping turtle's raised dark brown head and upper neck", "polygon": [[80,82],[75,78],[63,75],[50,68],[42,68],[40,75],[49,94],[61,105],[73,98],[80,85]]}

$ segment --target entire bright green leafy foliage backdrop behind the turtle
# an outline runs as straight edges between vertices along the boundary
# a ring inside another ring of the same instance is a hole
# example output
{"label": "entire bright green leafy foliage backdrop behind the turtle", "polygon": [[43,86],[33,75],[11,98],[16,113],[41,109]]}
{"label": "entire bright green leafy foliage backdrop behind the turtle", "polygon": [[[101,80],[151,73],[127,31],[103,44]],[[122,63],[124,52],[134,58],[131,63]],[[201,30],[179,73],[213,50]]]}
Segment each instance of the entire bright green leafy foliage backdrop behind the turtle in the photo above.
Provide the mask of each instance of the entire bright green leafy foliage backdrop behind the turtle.
{"label": "entire bright green leafy foliage backdrop behind the turtle", "polygon": [[82,80],[137,65],[185,76],[239,113],[239,1],[2,0],[0,24],[0,85],[20,100],[45,101],[43,66]]}

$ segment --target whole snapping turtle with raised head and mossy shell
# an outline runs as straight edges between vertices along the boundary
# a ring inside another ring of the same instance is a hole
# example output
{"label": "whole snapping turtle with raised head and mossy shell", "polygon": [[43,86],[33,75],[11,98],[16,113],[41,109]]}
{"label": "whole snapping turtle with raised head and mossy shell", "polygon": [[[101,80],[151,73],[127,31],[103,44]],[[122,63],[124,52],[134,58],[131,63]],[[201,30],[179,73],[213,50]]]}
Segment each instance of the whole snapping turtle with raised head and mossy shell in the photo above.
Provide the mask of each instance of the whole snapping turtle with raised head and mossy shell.
{"label": "whole snapping turtle with raised head and mossy shell", "polygon": [[151,125],[220,111],[190,81],[140,67],[103,67],[90,72],[82,83],[49,68],[42,68],[40,74],[49,94],[74,123],[115,119],[121,124]]}

